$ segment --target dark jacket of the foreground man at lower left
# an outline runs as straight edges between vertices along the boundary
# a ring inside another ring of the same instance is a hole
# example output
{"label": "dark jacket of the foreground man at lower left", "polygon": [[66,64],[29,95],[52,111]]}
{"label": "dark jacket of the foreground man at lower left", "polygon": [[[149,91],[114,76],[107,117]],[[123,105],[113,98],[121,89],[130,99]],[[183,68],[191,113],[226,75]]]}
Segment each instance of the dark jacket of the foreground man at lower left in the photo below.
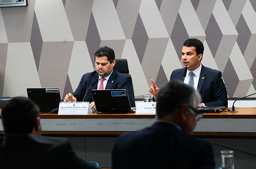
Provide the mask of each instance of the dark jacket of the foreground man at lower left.
{"label": "dark jacket of the foreground man at lower left", "polygon": [[4,135],[0,139],[0,165],[3,169],[96,169],[77,157],[67,139],[31,134]]}

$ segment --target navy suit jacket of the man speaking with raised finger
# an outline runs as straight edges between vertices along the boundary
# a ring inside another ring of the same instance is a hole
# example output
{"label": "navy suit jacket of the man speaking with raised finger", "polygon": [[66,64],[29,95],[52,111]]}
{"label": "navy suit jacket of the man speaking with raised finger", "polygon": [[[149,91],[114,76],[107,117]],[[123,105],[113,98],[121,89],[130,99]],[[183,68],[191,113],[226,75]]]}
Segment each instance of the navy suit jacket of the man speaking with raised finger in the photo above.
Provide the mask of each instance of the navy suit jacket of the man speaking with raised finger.
{"label": "navy suit jacket of the man speaking with raised finger", "polygon": [[[176,69],[171,73],[171,80],[183,80],[184,69]],[[202,97],[205,106],[227,107],[227,90],[221,72],[202,65],[197,91]]]}

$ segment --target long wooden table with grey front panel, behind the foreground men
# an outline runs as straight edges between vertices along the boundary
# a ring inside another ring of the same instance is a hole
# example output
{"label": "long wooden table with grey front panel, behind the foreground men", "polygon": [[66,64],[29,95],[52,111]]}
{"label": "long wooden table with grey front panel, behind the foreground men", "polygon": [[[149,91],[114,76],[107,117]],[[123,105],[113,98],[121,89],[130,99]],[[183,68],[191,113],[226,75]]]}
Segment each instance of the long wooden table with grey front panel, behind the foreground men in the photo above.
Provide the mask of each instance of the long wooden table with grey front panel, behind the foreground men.
{"label": "long wooden table with grey front panel, behind the foreground men", "polygon": [[[237,113],[208,113],[197,122],[193,135],[254,153],[256,150],[256,108],[236,108]],[[1,115],[0,115],[1,118]],[[156,119],[151,114],[40,114],[43,134],[65,136],[74,151],[87,161],[97,161],[102,167],[111,168],[111,152],[116,137],[127,131],[136,131],[152,125]],[[0,134],[4,131],[0,119]],[[242,138],[242,139],[241,139]],[[244,139],[250,138],[250,139]],[[103,144],[104,143],[104,144]],[[220,164],[220,150],[213,145],[216,164]],[[244,161],[255,166],[255,159],[235,152],[235,163]],[[239,161],[240,160],[240,161]],[[219,165],[218,165],[219,166]],[[255,167],[254,167],[255,168]]]}

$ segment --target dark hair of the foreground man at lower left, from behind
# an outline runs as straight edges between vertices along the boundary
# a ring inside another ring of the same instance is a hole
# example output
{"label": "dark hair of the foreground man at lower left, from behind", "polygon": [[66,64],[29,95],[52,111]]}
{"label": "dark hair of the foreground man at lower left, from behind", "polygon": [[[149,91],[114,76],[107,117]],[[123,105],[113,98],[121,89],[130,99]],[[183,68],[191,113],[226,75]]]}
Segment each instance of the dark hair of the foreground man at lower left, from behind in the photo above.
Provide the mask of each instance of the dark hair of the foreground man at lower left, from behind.
{"label": "dark hair of the foreground man at lower left, from behind", "polygon": [[1,114],[6,134],[31,133],[39,117],[39,107],[29,98],[15,97],[3,107]]}

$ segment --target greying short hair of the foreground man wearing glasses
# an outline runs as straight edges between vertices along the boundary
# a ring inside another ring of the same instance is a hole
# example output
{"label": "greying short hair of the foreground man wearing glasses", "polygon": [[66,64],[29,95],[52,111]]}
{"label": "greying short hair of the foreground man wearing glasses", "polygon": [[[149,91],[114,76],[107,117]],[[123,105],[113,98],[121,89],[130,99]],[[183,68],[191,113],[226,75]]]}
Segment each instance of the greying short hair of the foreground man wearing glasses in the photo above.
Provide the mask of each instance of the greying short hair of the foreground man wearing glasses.
{"label": "greying short hair of the foreground man wearing glasses", "polygon": [[200,101],[201,97],[194,87],[171,80],[157,94],[157,118],[174,115],[184,104],[195,107]]}

